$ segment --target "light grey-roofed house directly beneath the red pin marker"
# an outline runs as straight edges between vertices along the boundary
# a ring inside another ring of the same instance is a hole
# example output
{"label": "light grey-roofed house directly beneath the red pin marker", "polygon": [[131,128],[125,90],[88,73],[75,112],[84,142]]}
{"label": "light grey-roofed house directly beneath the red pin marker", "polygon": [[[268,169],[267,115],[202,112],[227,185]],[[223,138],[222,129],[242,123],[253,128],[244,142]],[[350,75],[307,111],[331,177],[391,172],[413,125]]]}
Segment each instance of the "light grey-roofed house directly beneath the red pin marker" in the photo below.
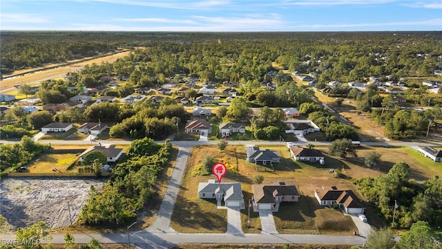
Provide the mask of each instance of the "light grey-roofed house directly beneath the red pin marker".
{"label": "light grey-roofed house directly beneath the red pin marker", "polygon": [[211,179],[207,183],[198,185],[198,197],[216,199],[218,207],[224,201],[226,207],[245,208],[241,183],[218,183],[218,180]]}

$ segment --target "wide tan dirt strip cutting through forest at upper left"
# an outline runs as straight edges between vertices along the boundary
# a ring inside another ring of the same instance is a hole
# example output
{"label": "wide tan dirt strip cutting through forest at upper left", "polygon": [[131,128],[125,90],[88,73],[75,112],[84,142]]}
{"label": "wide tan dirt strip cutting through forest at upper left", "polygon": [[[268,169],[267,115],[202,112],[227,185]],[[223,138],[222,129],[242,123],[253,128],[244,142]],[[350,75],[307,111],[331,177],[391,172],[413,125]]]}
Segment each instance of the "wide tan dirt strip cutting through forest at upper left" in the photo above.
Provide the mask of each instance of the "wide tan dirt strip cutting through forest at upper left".
{"label": "wide tan dirt strip cutting through forest at upper left", "polygon": [[[125,51],[125,52],[118,52],[113,55],[108,55],[105,57],[99,57],[99,58],[91,58],[85,62],[78,62],[75,64],[70,64],[69,66],[59,66],[57,68],[47,69],[44,70],[42,68],[41,71],[37,71],[36,73],[30,73],[28,75],[23,76],[17,76],[17,77],[10,77],[5,80],[1,80],[0,82],[0,90],[4,91],[6,89],[11,89],[17,84],[33,84],[34,82],[40,82],[47,79],[50,79],[52,77],[64,77],[66,73],[75,71],[77,68],[84,66],[86,64],[102,64],[104,62],[115,62],[117,59],[125,57],[131,53],[131,51]],[[51,64],[49,66],[54,66],[54,64]],[[35,70],[35,69],[32,69]],[[24,72],[22,72],[24,73]],[[7,76],[7,75],[5,75]]]}

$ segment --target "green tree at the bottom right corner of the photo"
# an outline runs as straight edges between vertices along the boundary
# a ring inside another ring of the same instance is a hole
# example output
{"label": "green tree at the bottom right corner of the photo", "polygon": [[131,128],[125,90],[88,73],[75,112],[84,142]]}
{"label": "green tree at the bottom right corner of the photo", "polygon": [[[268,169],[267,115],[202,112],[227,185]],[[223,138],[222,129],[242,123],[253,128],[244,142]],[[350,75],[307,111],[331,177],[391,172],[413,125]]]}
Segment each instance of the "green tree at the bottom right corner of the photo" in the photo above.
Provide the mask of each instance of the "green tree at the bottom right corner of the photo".
{"label": "green tree at the bottom right corner of the photo", "polygon": [[413,223],[408,232],[405,232],[398,242],[399,249],[421,248],[432,249],[441,245],[441,238],[436,237],[434,231],[427,221],[417,221]]}

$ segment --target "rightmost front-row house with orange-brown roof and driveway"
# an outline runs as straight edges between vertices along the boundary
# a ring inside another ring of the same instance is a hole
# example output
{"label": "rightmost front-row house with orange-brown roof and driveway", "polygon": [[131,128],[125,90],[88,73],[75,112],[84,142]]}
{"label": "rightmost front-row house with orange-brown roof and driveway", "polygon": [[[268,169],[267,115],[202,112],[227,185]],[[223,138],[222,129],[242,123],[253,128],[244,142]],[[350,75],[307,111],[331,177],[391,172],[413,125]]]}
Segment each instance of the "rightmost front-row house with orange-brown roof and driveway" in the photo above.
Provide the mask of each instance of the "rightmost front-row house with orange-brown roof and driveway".
{"label": "rightmost front-row house with orange-brown roof and driveway", "polygon": [[336,187],[321,187],[314,190],[316,200],[323,206],[338,203],[347,214],[363,214],[365,207],[352,190],[338,190]]}

